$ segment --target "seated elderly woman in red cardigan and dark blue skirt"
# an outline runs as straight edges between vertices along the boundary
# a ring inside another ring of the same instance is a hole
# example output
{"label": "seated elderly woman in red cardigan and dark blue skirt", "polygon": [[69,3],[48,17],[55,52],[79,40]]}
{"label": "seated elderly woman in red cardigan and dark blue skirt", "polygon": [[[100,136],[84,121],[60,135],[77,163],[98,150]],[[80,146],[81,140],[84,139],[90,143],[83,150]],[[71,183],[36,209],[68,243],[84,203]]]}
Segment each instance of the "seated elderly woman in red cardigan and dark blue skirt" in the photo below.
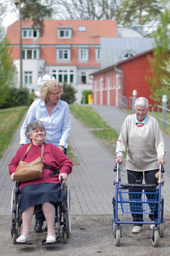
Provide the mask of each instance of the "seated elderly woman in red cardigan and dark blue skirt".
{"label": "seated elderly woman in red cardigan and dark blue skirt", "polygon": [[[17,200],[19,211],[22,213],[22,234],[17,237],[16,242],[26,243],[29,241],[29,229],[35,206],[42,204],[42,211],[47,223],[46,243],[54,243],[56,242],[54,225],[56,205],[67,199],[67,195],[60,186],[60,180],[67,180],[67,176],[72,170],[72,163],[57,146],[44,142],[46,130],[42,122],[33,121],[29,123],[26,128],[26,136],[32,142],[31,148],[26,153],[29,144],[25,144],[17,150],[9,164],[10,179],[15,181],[15,170],[23,157],[26,163],[31,163],[41,156],[42,146],[44,146],[44,169],[42,178],[19,183]],[[59,172],[57,172],[58,170]]]}

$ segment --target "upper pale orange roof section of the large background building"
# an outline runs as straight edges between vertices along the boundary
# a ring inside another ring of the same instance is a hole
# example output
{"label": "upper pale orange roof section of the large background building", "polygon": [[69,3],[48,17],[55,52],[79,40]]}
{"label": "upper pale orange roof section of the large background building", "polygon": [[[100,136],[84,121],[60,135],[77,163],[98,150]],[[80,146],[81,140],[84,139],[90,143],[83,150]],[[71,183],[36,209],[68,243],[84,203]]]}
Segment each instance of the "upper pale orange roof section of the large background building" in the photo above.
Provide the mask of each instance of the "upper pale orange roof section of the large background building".
{"label": "upper pale orange roof section of the large background building", "polygon": [[[30,27],[31,20],[22,21],[22,27]],[[86,26],[86,31],[78,31],[78,26]],[[57,38],[58,27],[71,27],[71,38]],[[10,44],[19,44],[19,21],[8,27]],[[40,38],[22,39],[23,44],[43,45],[100,45],[101,37],[117,37],[115,20],[44,20],[44,34]]]}

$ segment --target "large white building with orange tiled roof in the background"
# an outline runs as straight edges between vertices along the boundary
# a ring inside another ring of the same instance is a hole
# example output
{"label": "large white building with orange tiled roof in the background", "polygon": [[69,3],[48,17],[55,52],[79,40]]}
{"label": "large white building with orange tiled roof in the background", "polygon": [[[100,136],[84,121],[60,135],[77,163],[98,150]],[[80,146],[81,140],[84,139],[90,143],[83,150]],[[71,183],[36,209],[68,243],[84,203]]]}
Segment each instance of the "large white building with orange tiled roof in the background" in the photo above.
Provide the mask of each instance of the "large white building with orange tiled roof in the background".
{"label": "large white building with orange tiled roof in the background", "polygon": [[[116,37],[114,20],[44,20],[44,33],[22,21],[22,83],[30,91],[37,78],[48,74],[75,87],[89,84],[90,73],[101,67],[101,37]],[[17,67],[19,86],[19,21],[8,27],[7,38]],[[87,88],[89,89],[89,88]]]}

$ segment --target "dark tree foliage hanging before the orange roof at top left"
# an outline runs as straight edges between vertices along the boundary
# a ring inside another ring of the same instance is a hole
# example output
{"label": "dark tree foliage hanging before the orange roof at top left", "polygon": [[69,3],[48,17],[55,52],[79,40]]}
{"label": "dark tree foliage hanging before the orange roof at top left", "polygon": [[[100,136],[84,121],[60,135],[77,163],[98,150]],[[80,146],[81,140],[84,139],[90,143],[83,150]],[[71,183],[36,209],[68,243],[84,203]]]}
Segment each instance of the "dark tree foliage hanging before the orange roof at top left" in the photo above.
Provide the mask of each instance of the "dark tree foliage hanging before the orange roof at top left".
{"label": "dark tree foliage hanging before the orange roof at top left", "polygon": [[[21,0],[22,2],[22,20],[33,20],[33,29],[40,26],[40,35],[44,31],[44,19],[49,19],[52,14],[50,3],[42,4],[39,0]],[[15,1],[18,6],[19,1]]]}

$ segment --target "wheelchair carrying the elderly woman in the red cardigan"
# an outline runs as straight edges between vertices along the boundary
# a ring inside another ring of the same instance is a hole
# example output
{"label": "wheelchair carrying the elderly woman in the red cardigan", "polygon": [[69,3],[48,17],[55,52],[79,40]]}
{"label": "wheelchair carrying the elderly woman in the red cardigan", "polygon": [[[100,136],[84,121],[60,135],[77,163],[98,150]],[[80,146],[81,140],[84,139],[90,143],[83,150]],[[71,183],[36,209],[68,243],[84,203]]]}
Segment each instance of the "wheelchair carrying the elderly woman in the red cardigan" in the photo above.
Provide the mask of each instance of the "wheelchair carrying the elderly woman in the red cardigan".
{"label": "wheelchair carrying the elderly woman in the red cardigan", "polygon": [[[46,240],[42,241],[42,246],[49,246],[50,244],[60,243],[61,238],[64,240],[64,243],[67,243],[67,239],[71,234],[71,207],[70,207],[70,190],[67,183],[61,180],[60,188],[67,195],[67,199],[56,205],[56,224],[58,227],[58,234],[56,234],[56,241],[53,243],[46,243]],[[19,203],[17,201],[19,193],[19,183],[15,183],[14,188],[12,189],[12,197],[11,197],[11,236],[13,244],[17,244],[16,239],[22,233],[22,213],[19,209]],[[41,211],[42,209],[38,209],[37,211]],[[36,213],[37,213],[36,211]],[[35,212],[34,212],[35,214]],[[61,234],[62,227],[62,234]],[[21,244],[21,243],[20,243]],[[31,245],[32,241],[28,241],[26,243]]]}

